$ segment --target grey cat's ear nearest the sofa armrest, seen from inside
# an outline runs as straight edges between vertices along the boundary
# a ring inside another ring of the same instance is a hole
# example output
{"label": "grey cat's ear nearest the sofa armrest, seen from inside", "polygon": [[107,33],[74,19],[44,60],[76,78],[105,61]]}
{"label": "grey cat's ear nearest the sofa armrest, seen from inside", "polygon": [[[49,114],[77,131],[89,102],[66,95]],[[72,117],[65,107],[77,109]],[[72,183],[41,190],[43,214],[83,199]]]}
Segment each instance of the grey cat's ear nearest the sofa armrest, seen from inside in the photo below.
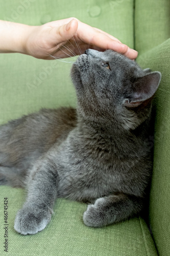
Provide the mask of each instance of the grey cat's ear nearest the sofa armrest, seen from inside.
{"label": "grey cat's ear nearest the sofa armrest, seen from inside", "polygon": [[150,99],[158,89],[160,81],[161,73],[158,71],[139,77],[133,84],[133,92],[124,100],[124,105],[135,108],[145,100]]}

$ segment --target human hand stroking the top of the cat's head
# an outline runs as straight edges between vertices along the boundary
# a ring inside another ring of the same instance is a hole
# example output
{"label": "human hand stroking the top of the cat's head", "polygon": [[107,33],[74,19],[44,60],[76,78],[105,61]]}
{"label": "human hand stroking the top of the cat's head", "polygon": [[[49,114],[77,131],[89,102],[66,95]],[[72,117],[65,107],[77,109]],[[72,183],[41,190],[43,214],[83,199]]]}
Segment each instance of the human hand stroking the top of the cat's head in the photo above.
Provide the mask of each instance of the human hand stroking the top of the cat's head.
{"label": "human hand stroking the top of the cat's head", "polygon": [[23,40],[23,52],[36,58],[53,59],[80,55],[88,48],[98,51],[112,49],[131,59],[137,52],[108,33],[66,18],[42,26],[28,26]]}

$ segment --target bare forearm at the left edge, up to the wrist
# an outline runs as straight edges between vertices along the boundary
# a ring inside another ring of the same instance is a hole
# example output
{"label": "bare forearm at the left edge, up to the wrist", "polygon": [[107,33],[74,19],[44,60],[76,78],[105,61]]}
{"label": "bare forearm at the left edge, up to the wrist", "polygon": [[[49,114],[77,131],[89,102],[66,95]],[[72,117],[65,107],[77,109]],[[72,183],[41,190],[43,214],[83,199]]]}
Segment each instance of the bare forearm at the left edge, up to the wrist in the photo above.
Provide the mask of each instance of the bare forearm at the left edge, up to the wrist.
{"label": "bare forearm at the left edge, up to the wrist", "polygon": [[26,53],[26,38],[32,26],[0,20],[0,53]]}

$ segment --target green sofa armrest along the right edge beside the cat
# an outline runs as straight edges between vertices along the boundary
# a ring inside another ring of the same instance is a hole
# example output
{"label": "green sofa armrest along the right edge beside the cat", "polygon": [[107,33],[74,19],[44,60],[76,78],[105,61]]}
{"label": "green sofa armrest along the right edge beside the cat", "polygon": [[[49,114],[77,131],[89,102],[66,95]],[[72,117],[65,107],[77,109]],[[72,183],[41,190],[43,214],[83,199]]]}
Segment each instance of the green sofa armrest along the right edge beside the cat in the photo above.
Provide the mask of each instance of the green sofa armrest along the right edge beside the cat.
{"label": "green sofa armrest along the right edge beside the cat", "polygon": [[159,255],[170,252],[170,38],[138,58],[143,67],[162,74],[158,88],[155,122],[154,168],[150,200],[150,224]]}

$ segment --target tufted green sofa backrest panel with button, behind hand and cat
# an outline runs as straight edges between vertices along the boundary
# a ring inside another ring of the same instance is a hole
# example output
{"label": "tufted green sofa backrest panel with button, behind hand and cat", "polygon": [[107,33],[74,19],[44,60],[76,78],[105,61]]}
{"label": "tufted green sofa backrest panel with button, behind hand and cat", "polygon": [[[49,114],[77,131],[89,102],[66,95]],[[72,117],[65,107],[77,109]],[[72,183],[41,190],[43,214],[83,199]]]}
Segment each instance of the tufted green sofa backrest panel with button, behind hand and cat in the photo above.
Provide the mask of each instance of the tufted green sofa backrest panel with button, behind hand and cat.
{"label": "tufted green sofa backrest panel with button, behind hand and cat", "polygon": [[[133,0],[126,3],[103,0],[0,0],[0,4],[0,19],[42,25],[75,16],[118,37],[130,47],[134,46]],[[1,54],[0,80],[3,86],[0,87],[0,124],[40,108],[75,106],[76,95],[69,77],[70,68],[71,63],[59,60],[40,60],[16,53]]]}

